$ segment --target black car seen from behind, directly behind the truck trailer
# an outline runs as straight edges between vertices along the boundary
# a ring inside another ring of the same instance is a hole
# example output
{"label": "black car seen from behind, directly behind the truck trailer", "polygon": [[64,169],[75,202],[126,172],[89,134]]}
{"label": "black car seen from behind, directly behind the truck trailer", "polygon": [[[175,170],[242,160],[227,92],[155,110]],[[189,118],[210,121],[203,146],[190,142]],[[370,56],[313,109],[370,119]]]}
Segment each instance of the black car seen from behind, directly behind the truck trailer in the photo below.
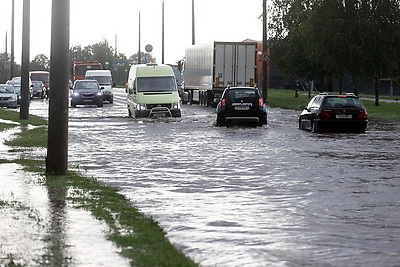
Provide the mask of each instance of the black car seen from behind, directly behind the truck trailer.
{"label": "black car seen from behind, directly behind the truck trailer", "polygon": [[258,88],[228,87],[217,106],[217,126],[267,124],[267,108]]}

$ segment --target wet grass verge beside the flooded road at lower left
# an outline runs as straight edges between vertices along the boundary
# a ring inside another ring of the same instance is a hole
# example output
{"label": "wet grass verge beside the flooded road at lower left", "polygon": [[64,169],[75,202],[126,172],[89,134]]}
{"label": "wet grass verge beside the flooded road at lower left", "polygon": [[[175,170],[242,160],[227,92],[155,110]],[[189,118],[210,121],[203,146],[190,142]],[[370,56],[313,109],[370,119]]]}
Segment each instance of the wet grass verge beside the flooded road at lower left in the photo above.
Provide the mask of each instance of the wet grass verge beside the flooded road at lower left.
{"label": "wet grass verge beside the flooded road at lower left", "polygon": [[[0,118],[19,121],[19,116],[11,111],[0,110]],[[33,116],[30,120],[34,120],[36,125],[46,124],[44,120]],[[32,123],[24,121],[23,124]],[[8,125],[14,126],[7,124],[6,128]],[[37,127],[22,131],[15,139],[7,141],[7,144],[18,147],[46,147],[46,138],[47,127]],[[77,208],[84,208],[91,211],[98,220],[104,221],[109,228],[107,238],[121,248],[121,254],[129,259],[132,266],[197,266],[169,242],[155,220],[140,213],[133,203],[116,189],[73,171],[65,176],[46,176],[44,160],[0,158],[1,163],[18,163],[25,171],[41,174],[43,186],[46,186],[52,203],[69,203]],[[52,256],[46,255],[47,259],[49,257]],[[63,264],[65,262],[57,263],[59,266]]]}

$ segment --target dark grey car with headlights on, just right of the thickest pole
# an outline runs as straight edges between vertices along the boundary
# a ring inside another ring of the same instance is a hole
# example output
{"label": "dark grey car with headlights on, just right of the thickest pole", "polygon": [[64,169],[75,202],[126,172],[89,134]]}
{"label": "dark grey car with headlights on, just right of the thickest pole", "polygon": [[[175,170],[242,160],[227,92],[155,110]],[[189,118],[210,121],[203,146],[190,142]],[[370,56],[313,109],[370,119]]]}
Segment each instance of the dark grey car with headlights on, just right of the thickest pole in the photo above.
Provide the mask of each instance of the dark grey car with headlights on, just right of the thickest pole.
{"label": "dark grey car with headlights on, just right of the thickest pole", "polygon": [[103,94],[96,80],[76,80],[72,90],[71,107],[77,105],[103,106]]}

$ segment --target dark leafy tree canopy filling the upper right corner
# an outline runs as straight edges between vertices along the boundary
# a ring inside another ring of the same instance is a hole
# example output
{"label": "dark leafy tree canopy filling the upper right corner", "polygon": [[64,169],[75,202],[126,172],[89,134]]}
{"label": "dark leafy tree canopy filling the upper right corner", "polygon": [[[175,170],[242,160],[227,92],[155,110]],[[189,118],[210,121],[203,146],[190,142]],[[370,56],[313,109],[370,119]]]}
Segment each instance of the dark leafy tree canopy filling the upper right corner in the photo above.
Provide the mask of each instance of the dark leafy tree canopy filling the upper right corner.
{"label": "dark leafy tree canopy filling the upper right corner", "polygon": [[344,73],[352,81],[398,77],[399,2],[273,0],[269,23],[272,60],[297,78],[306,74],[341,77]]}

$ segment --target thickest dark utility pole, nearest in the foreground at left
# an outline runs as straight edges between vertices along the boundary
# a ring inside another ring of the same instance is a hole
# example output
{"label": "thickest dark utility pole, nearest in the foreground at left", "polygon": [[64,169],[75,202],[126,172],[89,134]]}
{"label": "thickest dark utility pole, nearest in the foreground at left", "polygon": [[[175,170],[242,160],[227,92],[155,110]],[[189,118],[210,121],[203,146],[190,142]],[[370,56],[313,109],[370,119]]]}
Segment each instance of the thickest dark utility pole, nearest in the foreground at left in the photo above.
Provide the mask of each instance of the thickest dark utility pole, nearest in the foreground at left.
{"label": "thickest dark utility pole, nearest in the foreground at left", "polygon": [[68,170],[68,80],[70,0],[53,0],[50,51],[50,101],[46,173]]}

